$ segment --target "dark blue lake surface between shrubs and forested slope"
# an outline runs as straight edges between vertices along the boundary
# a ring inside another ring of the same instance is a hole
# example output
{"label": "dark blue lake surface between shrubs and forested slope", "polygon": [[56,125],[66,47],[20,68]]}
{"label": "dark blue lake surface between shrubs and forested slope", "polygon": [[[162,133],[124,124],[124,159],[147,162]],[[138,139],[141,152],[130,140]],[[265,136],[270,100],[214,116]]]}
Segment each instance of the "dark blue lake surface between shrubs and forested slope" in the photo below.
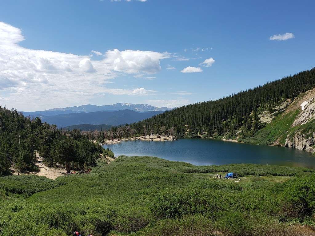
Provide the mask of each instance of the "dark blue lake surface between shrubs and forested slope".
{"label": "dark blue lake surface between shrubs and forested slope", "polygon": [[254,163],[315,168],[315,157],[302,150],[221,140],[123,141],[103,147],[112,149],[115,156],[155,156],[198,166]]}

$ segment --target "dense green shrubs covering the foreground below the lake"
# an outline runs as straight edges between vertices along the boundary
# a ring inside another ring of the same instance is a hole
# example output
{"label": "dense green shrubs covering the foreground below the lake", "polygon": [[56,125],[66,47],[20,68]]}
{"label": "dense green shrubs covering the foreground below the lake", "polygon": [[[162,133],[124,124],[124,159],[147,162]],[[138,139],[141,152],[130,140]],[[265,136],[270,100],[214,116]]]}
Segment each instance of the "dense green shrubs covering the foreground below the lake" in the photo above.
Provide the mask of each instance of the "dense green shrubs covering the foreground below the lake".
{"label": "dense green shrubs covering the foreground below the lake", "polygon": [[[244,170],[245,177],[237,183],[216,179],[211,170]],[[288,223],[314,222],[315,175],[302,168],[192,166],[121,156],[99,162],[89,174],[55,181],[3,177],[0,197],[3,236],[63,236],[75,230],[94,236],[303,235]]]}

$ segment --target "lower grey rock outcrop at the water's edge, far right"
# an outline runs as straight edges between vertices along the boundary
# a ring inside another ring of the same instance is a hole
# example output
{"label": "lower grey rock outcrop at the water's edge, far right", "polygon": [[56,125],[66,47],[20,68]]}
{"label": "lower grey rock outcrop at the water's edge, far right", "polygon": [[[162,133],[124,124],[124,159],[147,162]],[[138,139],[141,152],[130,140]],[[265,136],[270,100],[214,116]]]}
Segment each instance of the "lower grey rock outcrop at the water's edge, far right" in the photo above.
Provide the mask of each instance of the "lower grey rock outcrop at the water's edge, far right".
{"label": "lower grey rock outcrop at the water's edge, far right", "polygon": [[289,148],[296,148],[300,150],[305,150],[306,152],[315,152],[313,149],[315,132],[312,134],[303,134],[299,131],[295,133],[293,137],[287,136],[285,140],[285,146]]}

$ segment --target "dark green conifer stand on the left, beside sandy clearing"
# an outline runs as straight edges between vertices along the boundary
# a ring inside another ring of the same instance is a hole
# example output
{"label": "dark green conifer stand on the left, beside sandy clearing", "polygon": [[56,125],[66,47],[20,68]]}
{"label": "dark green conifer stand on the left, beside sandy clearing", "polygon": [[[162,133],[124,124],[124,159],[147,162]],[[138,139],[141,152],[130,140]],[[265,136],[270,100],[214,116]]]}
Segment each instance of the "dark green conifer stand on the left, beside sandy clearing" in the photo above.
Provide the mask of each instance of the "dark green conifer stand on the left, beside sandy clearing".
{"label": "dark green conifer stand on the left, beside sandy clearing", "polygon": [[93,166],[99,154],[107,151],[78,130],[62,132],[39,118],[30,119],[0,106],[0,176],[8,174],[11,166],[36,170],[35,150],[47,166],[64,164],[67,172]]}

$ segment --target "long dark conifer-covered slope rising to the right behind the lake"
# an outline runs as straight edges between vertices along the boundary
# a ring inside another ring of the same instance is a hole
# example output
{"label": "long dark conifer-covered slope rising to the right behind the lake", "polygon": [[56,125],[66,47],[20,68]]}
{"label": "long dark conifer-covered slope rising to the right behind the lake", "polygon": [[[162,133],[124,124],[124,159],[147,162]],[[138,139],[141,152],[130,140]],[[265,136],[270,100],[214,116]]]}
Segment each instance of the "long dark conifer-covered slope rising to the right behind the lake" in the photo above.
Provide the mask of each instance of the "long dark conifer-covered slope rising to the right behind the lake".
{"label": "long dark conifer-covered slope rising to the right behind the lake", "polygon": [[180,137],[235,137],[242,128],[251,136],[265,124],[258,115],[265,110],[272,112],[275,106],[290,99],[293,101],[315,84],[315,68],[293,76],[268,82],[262,86],[242,91],[218,100],[201,102],[167,111],[131,125],[137,133],[153,127],[168,130],[172,127]]}

